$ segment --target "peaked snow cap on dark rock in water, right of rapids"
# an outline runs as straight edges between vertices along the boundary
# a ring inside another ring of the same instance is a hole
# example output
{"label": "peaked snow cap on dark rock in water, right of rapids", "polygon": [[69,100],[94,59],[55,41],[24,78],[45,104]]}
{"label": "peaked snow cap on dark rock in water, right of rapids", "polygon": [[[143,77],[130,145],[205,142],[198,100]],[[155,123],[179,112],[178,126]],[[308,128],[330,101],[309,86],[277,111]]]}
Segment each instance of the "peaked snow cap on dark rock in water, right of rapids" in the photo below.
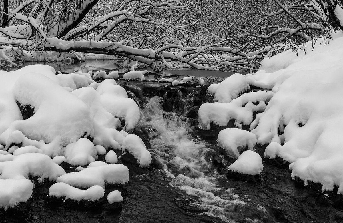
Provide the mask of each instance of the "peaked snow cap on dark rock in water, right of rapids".
{"label": "peaked snow cap on dark rock in water, right of rapids", "polygon": [[240,174],[259,175],[263,169],[261,156],[254,151],[244,151],[229,170]]}

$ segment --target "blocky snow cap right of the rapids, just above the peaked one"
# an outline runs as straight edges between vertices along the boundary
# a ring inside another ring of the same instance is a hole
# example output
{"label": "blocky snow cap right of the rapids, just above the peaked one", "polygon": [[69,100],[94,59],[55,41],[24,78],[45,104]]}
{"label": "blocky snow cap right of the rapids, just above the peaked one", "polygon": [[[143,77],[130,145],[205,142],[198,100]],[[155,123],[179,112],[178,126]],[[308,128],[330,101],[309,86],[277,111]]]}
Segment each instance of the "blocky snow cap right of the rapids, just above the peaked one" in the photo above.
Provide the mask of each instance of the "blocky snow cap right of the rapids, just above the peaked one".
{"label": "blocky snow cap right of the rapids, just above the peaked one", "polygon": [[257,139],[254,133],[235,128],[223,129],[218,133],[217,145],[224,148],[228,155],[239,157],[239,152],[248,146],[253,150]]}

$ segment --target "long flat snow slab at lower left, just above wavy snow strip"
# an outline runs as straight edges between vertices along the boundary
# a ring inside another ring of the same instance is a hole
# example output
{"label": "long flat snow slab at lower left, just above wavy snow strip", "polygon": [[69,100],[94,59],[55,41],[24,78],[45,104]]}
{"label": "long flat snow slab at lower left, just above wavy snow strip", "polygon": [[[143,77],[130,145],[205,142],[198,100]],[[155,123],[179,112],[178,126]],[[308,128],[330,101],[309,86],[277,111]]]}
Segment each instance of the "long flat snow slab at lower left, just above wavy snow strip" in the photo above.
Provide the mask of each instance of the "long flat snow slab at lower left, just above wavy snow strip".
{"label": "long flat snow slab at lower left, just above wavy snow strip", "polygon": [[129,181],[129,169],[122,164],[108,164],[84,168],[80,172],[64,174],[57,178],[73,187],[90,188],[94,185],[125,184]]}

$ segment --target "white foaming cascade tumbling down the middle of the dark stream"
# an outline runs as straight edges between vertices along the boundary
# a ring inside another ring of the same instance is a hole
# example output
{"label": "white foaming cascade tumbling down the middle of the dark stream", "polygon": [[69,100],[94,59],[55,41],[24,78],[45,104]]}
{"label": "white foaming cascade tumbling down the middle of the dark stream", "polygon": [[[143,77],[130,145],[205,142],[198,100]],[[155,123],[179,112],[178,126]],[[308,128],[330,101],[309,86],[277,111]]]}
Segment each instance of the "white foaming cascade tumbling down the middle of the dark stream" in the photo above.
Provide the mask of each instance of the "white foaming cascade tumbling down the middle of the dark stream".
{"label": "white foaming cascade tumbling down the middle of the dark stream", "polygon": [[[188,96],[184,100],[197,97],[196,93]],[[165,112],[161,100],[156,96],[145,104],[141,110],[140,128],[148,134],[151,152],[170,176],[169,184],[191,197],[178,200],[179,206],[186,210],[196,209],[201,212],[199,215],[213,216],[221,222],[236,222],[233,220],[244,219],[248,213],[265,215],[267,211],[261,206],[251,207],[239,200],[232,189],[217,186],[218,181],[226,180],[226,177],[217,174],[205,159],[213,146],[191,138],[190,124],[184,116],[187,110],[183,115]]]}

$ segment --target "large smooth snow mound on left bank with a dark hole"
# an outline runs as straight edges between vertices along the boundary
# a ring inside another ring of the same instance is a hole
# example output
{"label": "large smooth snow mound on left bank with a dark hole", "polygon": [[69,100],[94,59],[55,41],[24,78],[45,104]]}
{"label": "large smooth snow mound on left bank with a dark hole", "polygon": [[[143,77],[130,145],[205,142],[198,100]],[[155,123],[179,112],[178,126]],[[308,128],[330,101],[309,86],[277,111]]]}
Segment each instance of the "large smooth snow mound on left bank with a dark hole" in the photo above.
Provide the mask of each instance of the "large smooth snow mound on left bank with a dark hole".
{"label": "large smooth snow mound on left bank with a dark hole", "polygon": [[[29,139],[47,143],[60,137],[65,145],[79,139],[84,133],[93,134],[89,108],[58,84],[54,69],[46,69],[43,65],[28,67],[43,68],[46,73],[25,73],[26,67],[24,70],[0,74],[0,95],[3,95],[0,101],[4,108],[1,109],[0,120],[5,119],[0,121],[0,143],[5,144],[16,130]],[[23,120],[16,102],[30,105],[35,114]]]}

